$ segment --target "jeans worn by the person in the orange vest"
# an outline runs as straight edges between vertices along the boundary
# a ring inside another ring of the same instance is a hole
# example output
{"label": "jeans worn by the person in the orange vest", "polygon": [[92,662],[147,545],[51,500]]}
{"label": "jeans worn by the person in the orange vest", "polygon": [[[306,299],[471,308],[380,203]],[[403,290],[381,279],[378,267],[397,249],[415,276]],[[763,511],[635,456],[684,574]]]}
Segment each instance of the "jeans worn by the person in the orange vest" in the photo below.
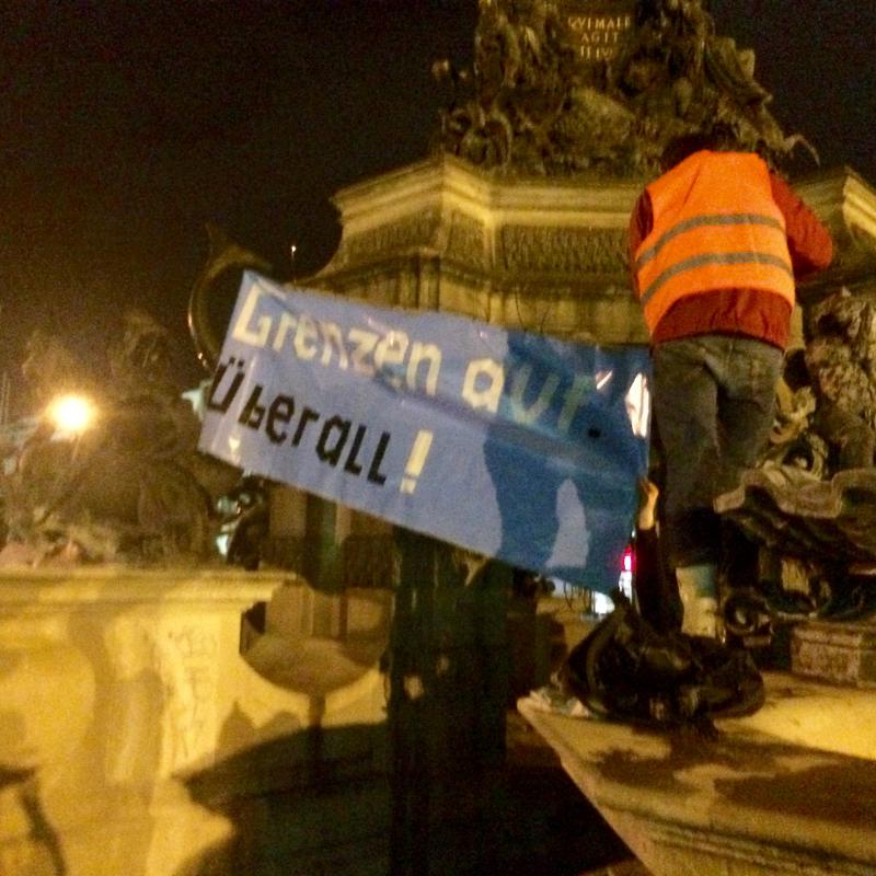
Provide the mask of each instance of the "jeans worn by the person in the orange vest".
{"label": "jeans worn by the person in the orange vest", "polygon": [[698,335],[654,349],[654,416],[664,448],[664,527],[672,568],[721,563],[716,496],[766,446],[782,351],[736,335]]}

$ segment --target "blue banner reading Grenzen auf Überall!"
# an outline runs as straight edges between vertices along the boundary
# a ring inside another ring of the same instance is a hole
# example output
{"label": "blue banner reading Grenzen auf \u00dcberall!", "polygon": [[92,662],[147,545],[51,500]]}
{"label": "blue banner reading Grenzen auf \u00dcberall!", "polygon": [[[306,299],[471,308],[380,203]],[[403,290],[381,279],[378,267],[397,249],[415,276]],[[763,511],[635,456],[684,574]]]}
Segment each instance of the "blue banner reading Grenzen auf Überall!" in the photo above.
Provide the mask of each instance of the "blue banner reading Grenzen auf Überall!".
{"label": "blue banner reading Grenzen auf \u00dcberall!", "polygon": [[647,469],[648,354],[244,275],[200,449],[609,592]]}

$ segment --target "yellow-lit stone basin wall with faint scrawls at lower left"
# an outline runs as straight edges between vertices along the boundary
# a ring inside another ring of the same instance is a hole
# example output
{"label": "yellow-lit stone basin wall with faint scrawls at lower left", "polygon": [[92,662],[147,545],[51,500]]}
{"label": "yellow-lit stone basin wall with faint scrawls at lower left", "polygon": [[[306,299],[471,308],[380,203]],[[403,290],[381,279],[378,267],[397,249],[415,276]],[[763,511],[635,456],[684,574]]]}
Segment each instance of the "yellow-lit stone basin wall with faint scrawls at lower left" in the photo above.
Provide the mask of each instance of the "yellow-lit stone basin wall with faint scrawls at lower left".
{"label": "yellow-lit stone basin wall with faint scrawls at lower left", "polygon": [[[311,602],[301,579],[279,572],[3,570],[0,874],[175,876],[234,833],[220,809],[193,799],[193,776],[283,740],[382,722],[373,637],[343,661],[342,636],[310,635]],[[258,603],[269,607],[264,631],[243,620]],[[345,615],[367,627],[378,610],[366,600]],[[241,654],[247,629],[252,661]],[[262,781],[300,786],[313,746],[277,750],[283,763]],[[233,775],[221,781],[233,797]]]}

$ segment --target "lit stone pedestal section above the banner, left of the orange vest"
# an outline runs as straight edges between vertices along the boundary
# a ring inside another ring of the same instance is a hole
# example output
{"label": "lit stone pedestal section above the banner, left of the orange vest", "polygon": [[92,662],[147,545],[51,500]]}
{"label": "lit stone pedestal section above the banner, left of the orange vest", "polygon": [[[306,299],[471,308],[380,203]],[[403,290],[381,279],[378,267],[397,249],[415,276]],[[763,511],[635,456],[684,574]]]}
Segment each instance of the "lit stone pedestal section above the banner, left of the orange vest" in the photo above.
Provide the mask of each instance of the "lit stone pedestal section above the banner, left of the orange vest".
{"label": "lit stone pedestal section above the banner, left of the orange vest", "polygon": [[507,178],[437,155],[339,192],[338,250],[301,283],[603,345],[644,344],[626,266],[643,184]]}

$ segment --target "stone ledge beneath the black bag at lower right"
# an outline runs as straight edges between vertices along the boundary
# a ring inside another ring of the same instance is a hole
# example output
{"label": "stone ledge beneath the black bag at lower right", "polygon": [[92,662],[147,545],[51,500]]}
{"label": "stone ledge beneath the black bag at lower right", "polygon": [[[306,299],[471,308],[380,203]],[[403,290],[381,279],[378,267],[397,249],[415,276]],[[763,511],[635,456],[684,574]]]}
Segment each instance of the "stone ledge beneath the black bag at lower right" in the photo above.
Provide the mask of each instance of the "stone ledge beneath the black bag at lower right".
{"label": "stone ledge beneath the black bag at lower right", "polygon": [[654,876],[876,873],[876,693],[764,683],[714,737],[518,708]]}

